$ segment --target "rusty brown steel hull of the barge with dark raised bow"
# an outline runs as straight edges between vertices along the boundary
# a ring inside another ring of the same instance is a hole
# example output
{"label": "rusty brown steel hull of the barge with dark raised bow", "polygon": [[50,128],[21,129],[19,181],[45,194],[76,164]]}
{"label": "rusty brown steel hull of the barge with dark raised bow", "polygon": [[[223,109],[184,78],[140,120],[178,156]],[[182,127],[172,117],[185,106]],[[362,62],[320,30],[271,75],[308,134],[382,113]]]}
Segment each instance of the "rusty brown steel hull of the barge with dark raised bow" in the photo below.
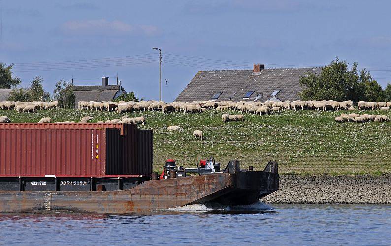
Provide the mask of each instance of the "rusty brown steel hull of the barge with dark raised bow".
{"label": "rusty brown steel hull of the barge with dark raised bow", "polygon": [[277,189],[277,173],[239,172],[149,180],[117,191],[0,191],[0,212],[121,214],[206,202],[250,204]]}

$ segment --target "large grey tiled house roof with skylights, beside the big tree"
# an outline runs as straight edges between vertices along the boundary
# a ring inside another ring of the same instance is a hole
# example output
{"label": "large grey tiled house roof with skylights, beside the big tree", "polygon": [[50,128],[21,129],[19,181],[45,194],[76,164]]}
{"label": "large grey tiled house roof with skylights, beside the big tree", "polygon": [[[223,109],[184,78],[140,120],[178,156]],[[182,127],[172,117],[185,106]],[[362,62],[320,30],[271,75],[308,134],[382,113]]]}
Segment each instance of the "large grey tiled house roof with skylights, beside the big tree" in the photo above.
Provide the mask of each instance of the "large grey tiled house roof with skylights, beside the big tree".
{"label": "large grey tiled house roof with skylights, beside the big tree", "polygon": [[300,76],[320,71],[320,67],[265,68],[260,73],[253,73],[253,70],[199,71],[175,101],[210,100],[217,92],[222,92],[218,101],[243,101],[248,91],[254,91],[248,101],[254,101],[258,96],[257,101],[264,102],[272,98],[273,91],[279,91],[275,97],[281,101],[294,101],[302,91]]}

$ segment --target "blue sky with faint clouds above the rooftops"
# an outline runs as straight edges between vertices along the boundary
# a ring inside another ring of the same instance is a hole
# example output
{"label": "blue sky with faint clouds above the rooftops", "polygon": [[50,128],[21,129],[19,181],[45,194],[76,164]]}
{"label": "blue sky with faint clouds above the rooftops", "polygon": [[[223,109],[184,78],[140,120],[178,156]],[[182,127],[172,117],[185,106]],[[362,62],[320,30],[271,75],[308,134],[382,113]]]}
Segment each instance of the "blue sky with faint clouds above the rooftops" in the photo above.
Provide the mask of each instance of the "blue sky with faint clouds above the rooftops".
{"label": "blue sky with faint clouds above the rooftops", "polygon": [[199,70],[358,62],[391,82],[391,1],[376,0],[0,0],[0,62],[52,93],[115,84],[173,101]]}

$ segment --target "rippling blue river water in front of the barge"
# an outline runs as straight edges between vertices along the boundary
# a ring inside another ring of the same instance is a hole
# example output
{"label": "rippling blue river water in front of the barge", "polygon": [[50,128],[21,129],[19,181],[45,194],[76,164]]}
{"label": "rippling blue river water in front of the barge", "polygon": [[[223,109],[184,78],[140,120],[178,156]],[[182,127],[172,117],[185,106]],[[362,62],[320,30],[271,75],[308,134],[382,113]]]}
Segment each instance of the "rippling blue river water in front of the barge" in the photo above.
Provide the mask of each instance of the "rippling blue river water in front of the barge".
{"label": "rippling blue river water in front of the barge", "polygon": [[191,205],[129,215],[0,214],[0,245],[391,245],[391,205]]}

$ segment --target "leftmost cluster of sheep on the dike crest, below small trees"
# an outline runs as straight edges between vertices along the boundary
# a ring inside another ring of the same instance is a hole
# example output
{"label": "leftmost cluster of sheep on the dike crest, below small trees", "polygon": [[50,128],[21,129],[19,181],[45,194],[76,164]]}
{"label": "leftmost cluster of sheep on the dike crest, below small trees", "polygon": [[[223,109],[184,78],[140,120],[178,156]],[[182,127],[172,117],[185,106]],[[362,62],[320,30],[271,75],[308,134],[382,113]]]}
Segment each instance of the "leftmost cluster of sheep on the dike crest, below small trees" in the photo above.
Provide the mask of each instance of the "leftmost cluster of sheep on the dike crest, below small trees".
{"label": "leftmost cluster of sheep on the dike crest, below small trees", "polygon": [[2,101],[0,102],[0,109],[15,109],[19,112],[33,112],[37,109],[58,109],[59,102],[51,101],[51,102],[12,102],[12,101]]}

